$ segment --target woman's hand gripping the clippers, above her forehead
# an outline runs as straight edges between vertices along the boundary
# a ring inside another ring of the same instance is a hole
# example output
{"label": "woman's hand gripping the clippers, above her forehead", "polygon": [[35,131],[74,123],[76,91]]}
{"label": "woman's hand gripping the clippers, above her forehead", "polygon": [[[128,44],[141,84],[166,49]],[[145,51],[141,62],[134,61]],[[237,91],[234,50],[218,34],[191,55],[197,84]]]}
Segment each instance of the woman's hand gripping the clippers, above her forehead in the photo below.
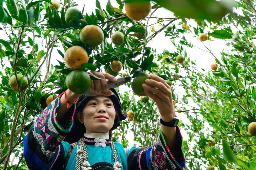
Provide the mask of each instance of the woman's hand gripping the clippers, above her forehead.
{"label": "woman's hand gripping the clippers, above her forehead", "polygon": [[97,71],[91,71],[88,74],[102,78],[104,80],[91,80],[92,84],[91,84],[91,87],[89,90],[91,92],[95,92],[95,93],[86,93],[84,95],[88,95],[88,96],[96,96],[96,95],[110,96],[110,95],[112,95],[112,91],[108,89],[108,84],[107,84],[106,79],[108,79],[112,82],[116,82],[117,79],[114,76],[112,76],[108,73],[102,73],[102,72],[97,72]]}

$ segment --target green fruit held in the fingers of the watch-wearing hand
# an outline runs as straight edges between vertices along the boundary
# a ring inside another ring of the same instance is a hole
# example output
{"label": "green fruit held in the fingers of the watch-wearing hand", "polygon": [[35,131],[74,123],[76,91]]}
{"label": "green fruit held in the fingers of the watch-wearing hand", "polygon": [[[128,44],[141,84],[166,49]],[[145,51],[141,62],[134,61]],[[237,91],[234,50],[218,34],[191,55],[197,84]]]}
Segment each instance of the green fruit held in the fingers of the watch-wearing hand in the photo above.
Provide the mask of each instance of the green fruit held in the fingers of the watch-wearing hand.
{"label": "green fruit held in the fingers of the watch-wearing hand", "polygon": [[142,84],[145,83],[145,80],[148,78],[149,78],[149,74],[147,73],[142,73],[136,76],[132,82],[133,93],[137,94],[138,96],[146,95],[142,87]]}

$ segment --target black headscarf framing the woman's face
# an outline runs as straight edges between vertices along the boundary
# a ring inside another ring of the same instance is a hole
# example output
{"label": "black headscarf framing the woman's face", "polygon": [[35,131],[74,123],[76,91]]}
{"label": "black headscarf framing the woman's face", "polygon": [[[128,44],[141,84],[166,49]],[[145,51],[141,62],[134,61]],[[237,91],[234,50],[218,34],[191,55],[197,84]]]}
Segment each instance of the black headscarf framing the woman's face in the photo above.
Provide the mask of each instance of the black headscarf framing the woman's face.
{"label": "black headscarf framing the woman's face", "polygon": [[[121,112],[121,102],[120,102],[120,98],[119,98],[116,90],[113,88],[111,88],[110,90],[113,92],[113,94],[108,97],[112,100],[115,110],[117,111],[117,116],[115,118],[114,125],[111,128],[111,130],[114,130],[118,126],[120,126],[119,121],[126,119],[127,113],[122,114],[122,112]],[[85,107],[85,105],[87,104],[87,102],[89,102],[90,99],[93,97],[95,97],[95,96],[82,95],[79,97],[79,100],[76,103],[73,127],[71,128],[71,131],[68,133],[68,135],[66,136],[64,141],[67,141],[68,143],[72,144],[72,143],[77,142],[80,138],[82,138],[84,136],[84,133],[85,133],[84,124],[79,122],[79,120],[76,118],[76,114],[78,112],[82,111],[83,108]],[[69,111],[73,111],[73,110],[74,110],[74,105],[71,106]],[[66,114],[68,114],[68,113],[66,113]]]}

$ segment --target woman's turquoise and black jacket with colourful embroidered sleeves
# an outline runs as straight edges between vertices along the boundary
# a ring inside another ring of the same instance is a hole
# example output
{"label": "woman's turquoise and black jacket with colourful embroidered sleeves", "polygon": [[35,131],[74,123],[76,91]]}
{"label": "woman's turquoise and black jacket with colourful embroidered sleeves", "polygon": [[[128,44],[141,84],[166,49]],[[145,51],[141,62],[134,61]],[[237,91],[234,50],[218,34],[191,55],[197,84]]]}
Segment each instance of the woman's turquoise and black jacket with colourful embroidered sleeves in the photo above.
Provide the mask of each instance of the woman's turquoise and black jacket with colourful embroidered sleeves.
{"label": "woman's turquoise and black jacket with colourful embroidered sleeves", "polygon": [[[59,106],[60,97],[61,95],[43,110],[24,138],[24,158],[31,170],[61,170],[64,168],[67,157],[69,160],[66,161],[68,163],[65,168],[75,169],[77,148],[75,147],[71,155],[68,155],[72,145],[63,141],[73,126],[75,110],[72,114],[65,115],[63,121],[65,124],[61,126],[56,120],[56,108]],[[96,147],[94,139],[84,138],[84,140],[91,165],[98,162],[114,164],[110,141],[106,141],[106,147]],[[176,153],[170,152],[161,131],[156,144],[152,147],[133,146],[126,153],[121,144],[115,143],[115,146],[122,170],[181,170],[185,168],[179,127],[177,127]]]}

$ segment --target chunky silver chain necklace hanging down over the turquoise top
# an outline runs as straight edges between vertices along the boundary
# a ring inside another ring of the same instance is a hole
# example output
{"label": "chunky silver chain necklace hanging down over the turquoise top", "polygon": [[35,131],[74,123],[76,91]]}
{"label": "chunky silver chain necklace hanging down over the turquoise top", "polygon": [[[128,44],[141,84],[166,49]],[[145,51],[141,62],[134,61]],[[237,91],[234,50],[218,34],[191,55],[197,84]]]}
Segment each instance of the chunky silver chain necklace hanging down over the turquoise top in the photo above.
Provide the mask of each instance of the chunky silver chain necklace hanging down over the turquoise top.
{"label": "chunky silver chain necklace hanging down over the turquoise top", "polygon": [[[83,138],[80,138],[79,139],[79,143],[80,143],[80,146],[77,145],[77,151],[75,153],[75,156],[76,156],[76,161],[75,161],[75,170],[91,170],[91,165],[88,161],[88,152],[87,152],[87,147],[84,143],[84,139]],[[111,141],[111,148],[113,150],[113,153],[114,153],[114,169],[115,170],[121,170],[121,163],[118,162],[118,155],[117,155],[117,150],[116,150],[116,147],[115,147],[115,144],[114,142]],[[84,160],[84,161],[83,161]]]}

